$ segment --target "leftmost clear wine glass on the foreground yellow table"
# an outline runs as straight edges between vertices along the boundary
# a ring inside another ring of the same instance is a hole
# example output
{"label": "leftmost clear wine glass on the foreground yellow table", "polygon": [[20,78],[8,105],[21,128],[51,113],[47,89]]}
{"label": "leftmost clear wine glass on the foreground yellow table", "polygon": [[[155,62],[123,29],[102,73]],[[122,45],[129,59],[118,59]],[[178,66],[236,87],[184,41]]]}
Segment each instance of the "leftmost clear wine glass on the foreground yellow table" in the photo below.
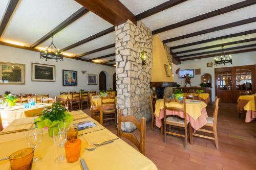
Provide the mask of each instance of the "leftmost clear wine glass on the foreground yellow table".
{"label": "leftmost clear wine glass on the foreground yellow table", "polygon": [[[33,147],[34,150],[36,149],[38,144],[41,142],[41,140],[42,140],[42,130],[41,129],[33,129],[27,133],[28,144],[31,147]],[[39,161],[39,158],[34,156],[33,161],[36,163]]]}

